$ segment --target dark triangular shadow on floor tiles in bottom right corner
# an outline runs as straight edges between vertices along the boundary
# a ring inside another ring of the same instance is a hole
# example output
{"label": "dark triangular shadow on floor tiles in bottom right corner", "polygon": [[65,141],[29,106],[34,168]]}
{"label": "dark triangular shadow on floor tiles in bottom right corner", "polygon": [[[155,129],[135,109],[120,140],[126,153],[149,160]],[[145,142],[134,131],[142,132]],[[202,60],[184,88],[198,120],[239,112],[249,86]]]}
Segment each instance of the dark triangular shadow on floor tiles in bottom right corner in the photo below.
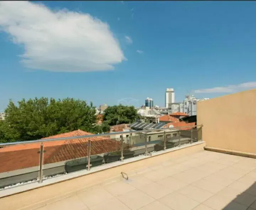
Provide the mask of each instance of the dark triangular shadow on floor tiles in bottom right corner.
{"label": "dark triangular shadow on floor tiles in bottom right corner", "polygon": [[[256,180],[256,177],[255,177]],[[222,210],[255,210],[256,209],[256,182],[247,190],[238,194]]]}

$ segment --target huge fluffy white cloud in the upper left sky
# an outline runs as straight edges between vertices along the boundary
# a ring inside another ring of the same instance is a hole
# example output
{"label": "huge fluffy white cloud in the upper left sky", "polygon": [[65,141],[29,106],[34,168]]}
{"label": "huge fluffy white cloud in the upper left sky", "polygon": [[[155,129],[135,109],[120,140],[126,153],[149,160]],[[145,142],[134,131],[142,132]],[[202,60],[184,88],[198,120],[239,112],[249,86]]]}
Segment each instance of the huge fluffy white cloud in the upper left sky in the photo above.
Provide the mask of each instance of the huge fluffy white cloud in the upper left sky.
{"label": "huge fluffy white cloud in the upper left sky", "polygon": [[113,69],[126,58],[107,23],[29,1],[0,2],[0,30],[24,46],[28,68],[85,72]]}

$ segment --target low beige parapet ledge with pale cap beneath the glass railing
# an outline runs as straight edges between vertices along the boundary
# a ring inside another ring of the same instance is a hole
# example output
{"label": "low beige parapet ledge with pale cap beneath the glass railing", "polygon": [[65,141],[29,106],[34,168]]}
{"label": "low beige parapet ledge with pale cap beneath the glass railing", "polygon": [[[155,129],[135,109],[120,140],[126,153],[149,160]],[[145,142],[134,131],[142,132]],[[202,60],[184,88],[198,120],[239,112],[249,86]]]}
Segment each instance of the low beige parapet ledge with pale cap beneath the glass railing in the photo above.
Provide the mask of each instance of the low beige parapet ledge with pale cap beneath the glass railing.
{"label": "low beige parapet ledge with pale cap beneath the glass railing", "polygon": [[[130,173],[171,157],[190,154],[200,151],[203,141],[174,147],[166,151],[154,152],[152,156],[139,156],[128,158],[124,162],[113,162],[92,168],[90,171],[82,170],[45,180],[43,183],[31,183],[0,192],[1,208],[5,210],[32,210],[52,203],[56,200],[75,195],[95,185],[118,179],[121,172]],[[86,176],[85,176],[86,175]]]}

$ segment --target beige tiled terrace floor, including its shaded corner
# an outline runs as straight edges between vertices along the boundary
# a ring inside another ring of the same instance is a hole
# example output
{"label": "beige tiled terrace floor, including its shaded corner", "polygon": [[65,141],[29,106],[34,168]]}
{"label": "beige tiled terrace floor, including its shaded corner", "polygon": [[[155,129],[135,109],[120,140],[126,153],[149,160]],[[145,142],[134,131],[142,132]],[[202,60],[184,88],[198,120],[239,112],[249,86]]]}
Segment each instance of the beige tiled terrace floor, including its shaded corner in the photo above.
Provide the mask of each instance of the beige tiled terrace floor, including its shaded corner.
{"label": "beige tiled terrace floor, including its shaded corner", "polygon": [[128,176],[38,210],[256,209],[256,159],[199,151]]}

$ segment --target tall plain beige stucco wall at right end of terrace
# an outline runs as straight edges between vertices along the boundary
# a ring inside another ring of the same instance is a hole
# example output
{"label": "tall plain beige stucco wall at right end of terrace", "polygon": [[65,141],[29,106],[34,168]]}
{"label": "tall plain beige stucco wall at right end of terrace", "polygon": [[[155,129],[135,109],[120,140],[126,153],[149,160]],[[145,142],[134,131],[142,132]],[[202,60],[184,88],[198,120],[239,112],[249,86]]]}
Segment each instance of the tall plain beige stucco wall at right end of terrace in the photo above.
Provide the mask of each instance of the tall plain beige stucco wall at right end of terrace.
{"label": "tall plain beige stucco wall at right end of terrace", "polygon": [[206,146],[256,154],[256,89],[197,103]]}

